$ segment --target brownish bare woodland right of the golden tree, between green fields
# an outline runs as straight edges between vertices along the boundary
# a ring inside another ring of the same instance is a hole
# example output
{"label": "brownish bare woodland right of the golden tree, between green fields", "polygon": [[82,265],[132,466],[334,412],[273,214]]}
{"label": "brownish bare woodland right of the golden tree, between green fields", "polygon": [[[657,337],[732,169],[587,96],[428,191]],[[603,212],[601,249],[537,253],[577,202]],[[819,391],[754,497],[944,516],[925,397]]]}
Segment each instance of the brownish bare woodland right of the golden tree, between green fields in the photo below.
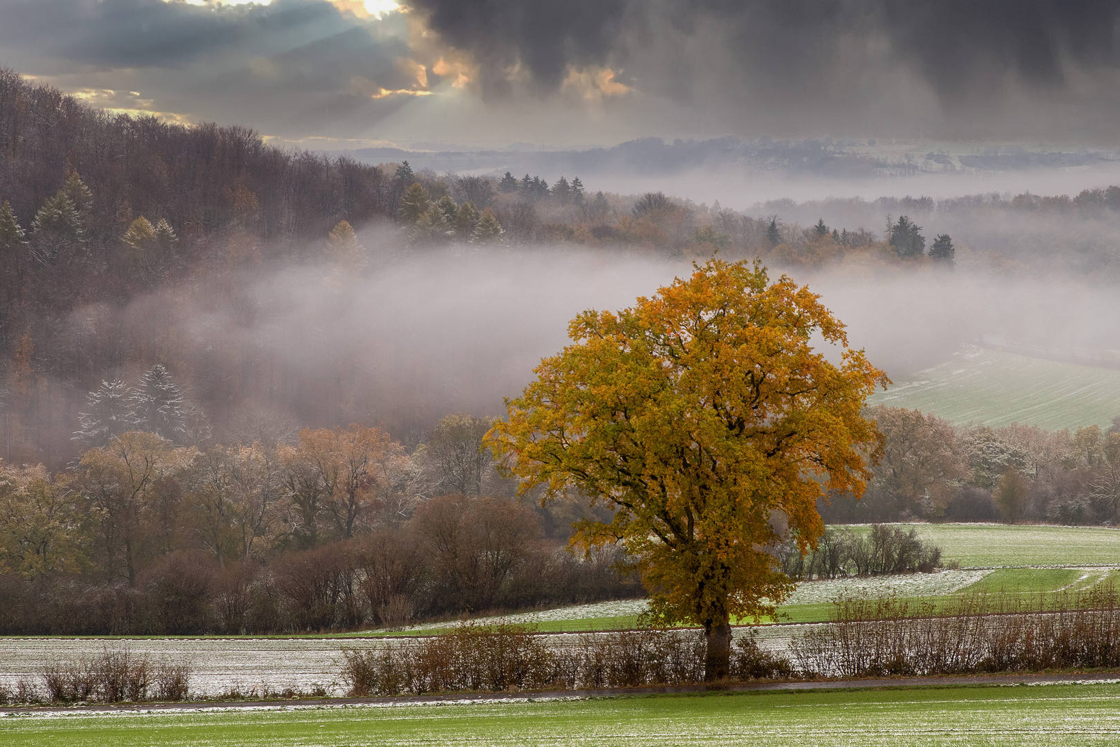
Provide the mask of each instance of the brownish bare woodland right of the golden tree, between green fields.
{"label": "brownish bare woodland right of the golden tree, between green fields", "polygon": [[883,459],[861,501],[821,504],[828,522],[1120,522],[1120,415],[1070,432],[955,427],[883,405],[868,414],[886,437]]}

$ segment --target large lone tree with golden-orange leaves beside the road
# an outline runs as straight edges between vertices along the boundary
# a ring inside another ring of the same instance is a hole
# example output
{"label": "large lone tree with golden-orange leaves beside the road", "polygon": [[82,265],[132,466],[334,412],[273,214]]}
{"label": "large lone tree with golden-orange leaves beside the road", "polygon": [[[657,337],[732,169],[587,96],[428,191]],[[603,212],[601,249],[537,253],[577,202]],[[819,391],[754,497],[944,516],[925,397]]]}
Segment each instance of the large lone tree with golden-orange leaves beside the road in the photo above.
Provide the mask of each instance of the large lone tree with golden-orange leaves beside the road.
{"label": "large lone tree with golden-orange leaves beside the road", "polygon": [[781,523],[804,552],[824,531],[818,498],[862,494],[881,437],[860,408],[887,379],[808,288],[758,264],[694,267],[633,308],[576,317],[573,344],[487,441],[522,494],[614,505],[572,542],[640,558],[654,620],[703,626],[710,681],[727,676],[731,618],[773,614],[792,590],[772,552]]}

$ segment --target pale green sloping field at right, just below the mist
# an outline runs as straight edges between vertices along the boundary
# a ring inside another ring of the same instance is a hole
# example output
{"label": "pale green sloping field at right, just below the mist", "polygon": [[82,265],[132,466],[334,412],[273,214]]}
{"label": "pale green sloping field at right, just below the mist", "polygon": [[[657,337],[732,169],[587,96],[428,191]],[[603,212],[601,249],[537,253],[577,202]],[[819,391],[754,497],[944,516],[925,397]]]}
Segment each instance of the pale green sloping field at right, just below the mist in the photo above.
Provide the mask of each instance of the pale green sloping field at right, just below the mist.
{"label": "pale green sloping field at right, just below the mist", "polygon": [[1120,371],[969,347],[948,363],[896,381],[870,402],[961,424],[1105,427],[1120,414]]}

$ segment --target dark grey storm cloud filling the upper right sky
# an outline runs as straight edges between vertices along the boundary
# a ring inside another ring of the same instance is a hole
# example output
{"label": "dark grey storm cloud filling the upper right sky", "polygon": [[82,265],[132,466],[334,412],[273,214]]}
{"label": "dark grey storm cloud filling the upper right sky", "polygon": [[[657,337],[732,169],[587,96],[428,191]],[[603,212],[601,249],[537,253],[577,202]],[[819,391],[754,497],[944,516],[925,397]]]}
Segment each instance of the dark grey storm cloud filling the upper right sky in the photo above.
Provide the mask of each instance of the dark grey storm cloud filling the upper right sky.
{"label": "dark grey storm cloud filling the upper right sky", "polygon": [[1116,0],[410,4],[448,44],[476,56],[494,92],[520,60],[545,88],[556,87],[569,65],[612,65],[640,90],[679,100],[715,85],[732,100],[787,104],[827,93],[859,106],[902,67],[952,105],[1001,94],[1009,81],[1035,93],[1062,91],[1071,86],[1071,64],[1094,73],[1114,72],[1120,62]]}

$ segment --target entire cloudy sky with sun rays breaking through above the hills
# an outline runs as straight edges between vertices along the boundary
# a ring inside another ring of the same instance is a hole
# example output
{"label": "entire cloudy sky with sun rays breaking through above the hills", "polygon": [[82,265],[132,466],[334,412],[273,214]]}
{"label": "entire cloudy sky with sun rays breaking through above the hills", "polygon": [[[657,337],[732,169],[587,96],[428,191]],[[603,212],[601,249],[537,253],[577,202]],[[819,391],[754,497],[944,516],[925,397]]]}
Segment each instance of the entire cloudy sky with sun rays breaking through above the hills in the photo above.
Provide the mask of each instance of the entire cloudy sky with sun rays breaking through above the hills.
{"label": "entire cloudy sky with sun rays breaking through above the hills", "polygon": [[0,0],[0,66],[308,147],[1120,142],[1116,0]]}

